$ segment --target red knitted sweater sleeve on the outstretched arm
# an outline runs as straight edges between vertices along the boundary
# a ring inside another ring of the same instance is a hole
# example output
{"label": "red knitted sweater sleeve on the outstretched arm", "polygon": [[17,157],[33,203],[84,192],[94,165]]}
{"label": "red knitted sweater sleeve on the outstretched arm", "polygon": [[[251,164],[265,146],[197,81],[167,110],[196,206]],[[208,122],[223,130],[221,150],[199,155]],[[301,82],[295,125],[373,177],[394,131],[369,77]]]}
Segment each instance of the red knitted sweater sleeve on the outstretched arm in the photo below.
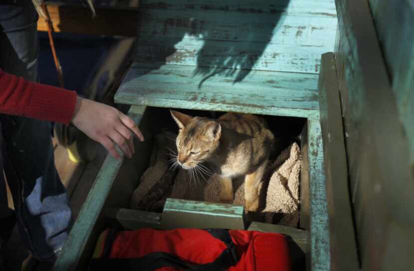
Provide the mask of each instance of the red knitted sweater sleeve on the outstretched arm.
{"label": "red knitted sweater sleeve on the outstretched arm", "polygon": [[33,83],[0,70],[0,114],[69,124],[76,92]]}

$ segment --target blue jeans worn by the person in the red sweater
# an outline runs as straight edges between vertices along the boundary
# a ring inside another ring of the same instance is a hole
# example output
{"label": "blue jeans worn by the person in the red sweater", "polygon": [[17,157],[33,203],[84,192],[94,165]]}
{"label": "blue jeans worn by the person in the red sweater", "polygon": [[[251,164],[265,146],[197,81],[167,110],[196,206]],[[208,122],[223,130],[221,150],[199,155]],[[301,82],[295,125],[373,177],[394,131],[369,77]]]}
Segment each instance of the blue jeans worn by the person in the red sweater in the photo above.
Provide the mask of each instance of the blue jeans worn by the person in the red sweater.
{"label": "blue jeans worn by the person in the red sweater", "polygon": [[[30,0],[5,1],[0,1],[0,68],[38,81],[37,12]],[[0,189],[4,170],[23,242],[34,258],[53,261],[73,221],[54,164],[51,125],[0,114],[0,132]]]}

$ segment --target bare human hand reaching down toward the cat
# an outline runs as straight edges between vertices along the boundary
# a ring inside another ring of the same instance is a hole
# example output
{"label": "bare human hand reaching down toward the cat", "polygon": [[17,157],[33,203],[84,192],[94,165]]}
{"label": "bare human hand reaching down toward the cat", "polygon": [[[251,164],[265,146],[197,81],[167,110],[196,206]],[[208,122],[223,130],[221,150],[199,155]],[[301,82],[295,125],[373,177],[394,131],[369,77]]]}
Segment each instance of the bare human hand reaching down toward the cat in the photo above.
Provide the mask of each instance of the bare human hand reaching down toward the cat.
{"label": "bare human hand reaching down toward the cat", "polygon": [[120,156],[114,143],[131,158],[135,152],[132,133],[144,141],[144,136],[131,118],[116,108],[79,96],[71,122],[86,136],[101,143],[117,159]]}

